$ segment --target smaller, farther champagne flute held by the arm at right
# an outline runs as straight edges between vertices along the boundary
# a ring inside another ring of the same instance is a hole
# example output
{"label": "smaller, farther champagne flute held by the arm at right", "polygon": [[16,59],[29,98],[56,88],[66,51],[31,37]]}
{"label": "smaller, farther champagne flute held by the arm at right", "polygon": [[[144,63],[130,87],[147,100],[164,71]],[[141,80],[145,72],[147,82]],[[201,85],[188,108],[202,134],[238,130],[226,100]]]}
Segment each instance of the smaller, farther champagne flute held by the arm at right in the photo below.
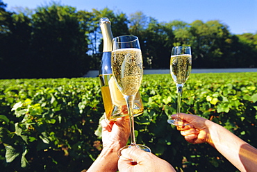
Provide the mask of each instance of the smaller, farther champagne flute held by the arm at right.
{"label": "smaller, farther champagne flute held by the arm at right", "polygon": [[172,55],[170,58],[170,74],[176,83],[176,91],[178,93],[176,118],[168,119],[167,122],[175,126],[186,126],[183,119],[180,117],[181,113],[181,96],[185,81],[188,80],[192,69],[192,56],[190,46],[174,46],[172,48]]}

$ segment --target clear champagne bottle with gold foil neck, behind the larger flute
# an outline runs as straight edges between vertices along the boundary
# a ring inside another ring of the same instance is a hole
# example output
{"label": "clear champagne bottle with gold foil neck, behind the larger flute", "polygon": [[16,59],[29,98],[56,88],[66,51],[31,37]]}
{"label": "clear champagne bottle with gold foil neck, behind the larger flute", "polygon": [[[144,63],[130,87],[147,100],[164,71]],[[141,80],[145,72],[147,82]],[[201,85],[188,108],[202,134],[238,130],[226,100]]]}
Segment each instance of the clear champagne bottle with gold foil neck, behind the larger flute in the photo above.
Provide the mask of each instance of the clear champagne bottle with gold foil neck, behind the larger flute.
{"label": "clear champagne bottle with gold foil neck, behind the larger flute", "polygon": [[[99,69],[101,94],[104,110],[106,112],[106,119],[113,121],[119,117],[128,115],[128,109],[126,101],[115,83],[113,71],[111,69],[113,33],[110,28],[110,20],[103,17],[100,19],[99,24],[103,35],[103,55]],[[144,107],[140,92],[136,94],[134,104],[134,116],[142,114]]]}

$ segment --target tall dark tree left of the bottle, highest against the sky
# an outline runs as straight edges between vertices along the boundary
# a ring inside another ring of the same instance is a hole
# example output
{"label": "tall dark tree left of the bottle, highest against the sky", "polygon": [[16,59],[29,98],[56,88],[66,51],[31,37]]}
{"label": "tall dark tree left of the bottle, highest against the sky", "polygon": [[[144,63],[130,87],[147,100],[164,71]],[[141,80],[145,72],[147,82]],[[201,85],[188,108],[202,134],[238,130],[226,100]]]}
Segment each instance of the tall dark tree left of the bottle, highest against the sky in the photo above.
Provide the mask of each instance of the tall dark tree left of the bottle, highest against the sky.
{"label": "tall dark tree left of the bottle, highest against the sky", "polygon": [[31,62],[34,77],[78,77],[88,71],[85,33],[76,8],[59,6],[39,7],[33,19]]}

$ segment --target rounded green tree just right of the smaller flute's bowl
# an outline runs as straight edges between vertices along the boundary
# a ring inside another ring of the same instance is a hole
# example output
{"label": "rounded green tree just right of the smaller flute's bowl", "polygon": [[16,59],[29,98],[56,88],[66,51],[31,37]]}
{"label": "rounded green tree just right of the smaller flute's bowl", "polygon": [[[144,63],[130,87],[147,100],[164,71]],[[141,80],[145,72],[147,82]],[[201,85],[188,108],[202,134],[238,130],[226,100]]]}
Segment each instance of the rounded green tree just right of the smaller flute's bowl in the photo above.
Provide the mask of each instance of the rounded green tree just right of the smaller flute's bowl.
{"label": "rounded green tree just right of the smaller flute's bowl", "polygon": [[227,26],[219,21],[208,21],[204,24],[199,20],[190,24],[190,45],[192,46],[192,57],[195,67],[224,68],[229,67],[224,62],[228,58],[231,34]]}

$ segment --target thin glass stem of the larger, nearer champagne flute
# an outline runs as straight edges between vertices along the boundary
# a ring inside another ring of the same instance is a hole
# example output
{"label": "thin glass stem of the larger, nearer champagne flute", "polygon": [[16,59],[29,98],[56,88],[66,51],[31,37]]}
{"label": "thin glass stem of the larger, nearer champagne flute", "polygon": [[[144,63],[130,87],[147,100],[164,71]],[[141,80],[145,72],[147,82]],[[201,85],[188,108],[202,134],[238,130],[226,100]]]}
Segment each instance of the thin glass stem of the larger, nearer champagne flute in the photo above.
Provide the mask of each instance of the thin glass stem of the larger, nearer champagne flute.
{"label": "thin glass stem of the larger, nearer champagne flute", "polygon": [[129,126],[131,128],[131,145],[136,145],[135,144],[135,132],[134,132],[134,115],[133,115],[135,96],[124,96],[124,98],[126,100],[126,105],[128,107]]}

